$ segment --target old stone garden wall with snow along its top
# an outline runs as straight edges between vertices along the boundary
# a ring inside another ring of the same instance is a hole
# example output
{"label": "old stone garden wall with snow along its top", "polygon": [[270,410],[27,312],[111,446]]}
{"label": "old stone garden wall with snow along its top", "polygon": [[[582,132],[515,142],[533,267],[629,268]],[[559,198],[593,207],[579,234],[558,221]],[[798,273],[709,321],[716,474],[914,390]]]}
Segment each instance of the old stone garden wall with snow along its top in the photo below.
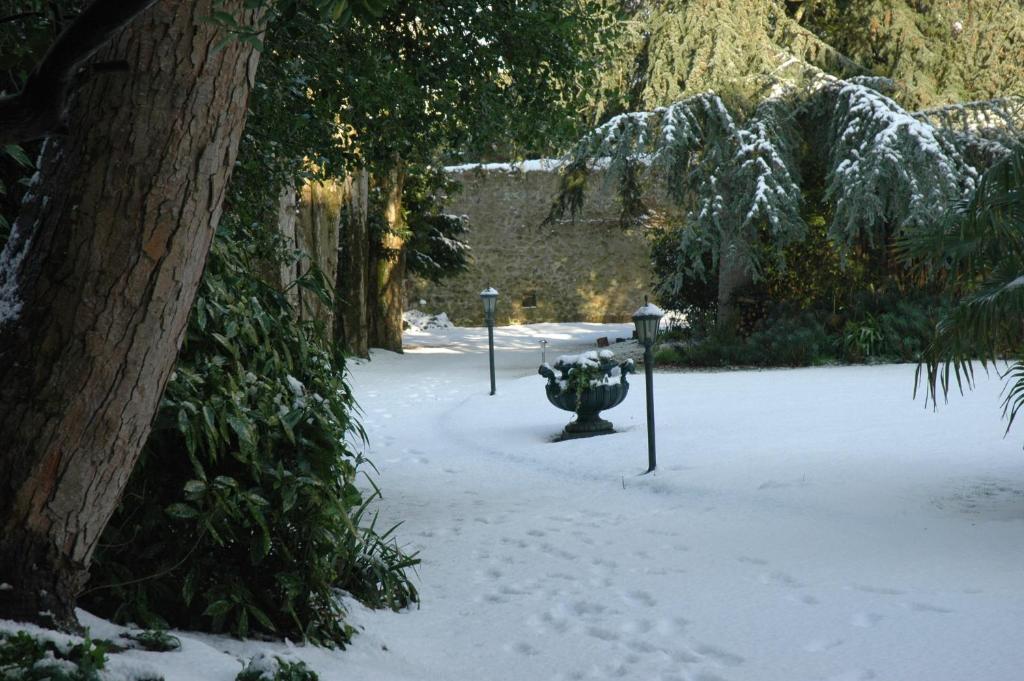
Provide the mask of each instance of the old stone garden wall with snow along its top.
{"label": "old stone garden wall with snow along its top", "polygon": [[[452,169],[463,185],[445,211],[469,217],[469,271],[441,284],[413,281],[409,308],[447,312],[458,325],[483,323],[479,292],[499,290],[498,324],[628,322],[650,292],[645,237],[618,225],[613,187],[591,178],[574,222],[541,226],[557,188],[550,166]],[[426,301],[421,304],[420,301]]]}

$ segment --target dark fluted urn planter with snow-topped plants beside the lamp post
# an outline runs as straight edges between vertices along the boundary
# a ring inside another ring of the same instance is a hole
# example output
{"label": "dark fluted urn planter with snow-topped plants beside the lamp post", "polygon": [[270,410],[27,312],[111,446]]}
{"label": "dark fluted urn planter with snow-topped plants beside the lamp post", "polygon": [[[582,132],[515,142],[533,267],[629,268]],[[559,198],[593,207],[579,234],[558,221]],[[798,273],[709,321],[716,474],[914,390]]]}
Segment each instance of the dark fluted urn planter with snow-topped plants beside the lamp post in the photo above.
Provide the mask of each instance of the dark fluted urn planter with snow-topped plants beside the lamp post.
{"label": "dark fluted urn planter with snow-topped plants beside the lamp post", "polygon": [[611,422],[601,418],[601,412],[626,399],[630,391],[626,376],[633,372],[632,359],[616,364],[610,350],[562,355],[554,367],[541,365],[538,373],[548,379],[544,387],[548,401],[577,415],[562,430],[560,439],[614,432]]}

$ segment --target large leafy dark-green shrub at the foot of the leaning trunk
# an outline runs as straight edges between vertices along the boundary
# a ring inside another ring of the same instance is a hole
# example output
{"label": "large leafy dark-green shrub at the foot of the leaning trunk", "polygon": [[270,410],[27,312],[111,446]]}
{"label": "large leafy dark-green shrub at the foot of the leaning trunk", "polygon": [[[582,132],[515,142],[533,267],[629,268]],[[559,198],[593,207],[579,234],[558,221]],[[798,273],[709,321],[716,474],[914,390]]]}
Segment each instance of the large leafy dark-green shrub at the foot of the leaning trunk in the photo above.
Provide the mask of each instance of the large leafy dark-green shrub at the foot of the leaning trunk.
{"label": "large leafy dark-green shrub at the foot of the leaning trunk", "polygon": [[418,560],[358,526],[364,461],[348,442],[362,431],[343,357],[253,273],[249,243],[215,240],[84,602],[150,628],[343,645],[353,630],[337,590],[400,607],[417,599],[406,570]]}

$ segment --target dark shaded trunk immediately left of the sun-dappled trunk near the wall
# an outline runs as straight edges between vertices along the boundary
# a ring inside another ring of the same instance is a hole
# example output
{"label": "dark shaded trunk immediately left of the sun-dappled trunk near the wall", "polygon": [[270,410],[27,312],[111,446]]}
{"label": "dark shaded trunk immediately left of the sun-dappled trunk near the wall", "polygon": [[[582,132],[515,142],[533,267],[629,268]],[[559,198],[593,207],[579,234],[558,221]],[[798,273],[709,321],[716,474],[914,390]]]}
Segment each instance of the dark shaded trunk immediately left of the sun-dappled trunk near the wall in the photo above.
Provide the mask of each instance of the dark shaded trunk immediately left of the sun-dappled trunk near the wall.
{"label": "dark shaded trunk immediately left of the sun-dappled trunk near the wall", "polygon": [[335,338],[349,354],[370,356],[370,173],[349,177],[348,207],[339,233],[338,280],[335,284]]}

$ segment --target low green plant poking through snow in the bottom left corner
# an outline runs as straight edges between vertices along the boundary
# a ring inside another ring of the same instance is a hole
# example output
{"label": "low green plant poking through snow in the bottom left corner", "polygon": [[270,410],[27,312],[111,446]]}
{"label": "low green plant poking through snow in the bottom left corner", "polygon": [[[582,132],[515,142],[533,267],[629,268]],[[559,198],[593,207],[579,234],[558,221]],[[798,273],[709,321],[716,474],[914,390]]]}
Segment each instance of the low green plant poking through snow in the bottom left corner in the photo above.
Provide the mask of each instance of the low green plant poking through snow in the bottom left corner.
{"label": "low green plant poking through snow in the bottom left corner", "polygon": [[105,664],[106,647],[88,638],[57,644],[24,631],[0,632],[0,681],[100,681]]}

